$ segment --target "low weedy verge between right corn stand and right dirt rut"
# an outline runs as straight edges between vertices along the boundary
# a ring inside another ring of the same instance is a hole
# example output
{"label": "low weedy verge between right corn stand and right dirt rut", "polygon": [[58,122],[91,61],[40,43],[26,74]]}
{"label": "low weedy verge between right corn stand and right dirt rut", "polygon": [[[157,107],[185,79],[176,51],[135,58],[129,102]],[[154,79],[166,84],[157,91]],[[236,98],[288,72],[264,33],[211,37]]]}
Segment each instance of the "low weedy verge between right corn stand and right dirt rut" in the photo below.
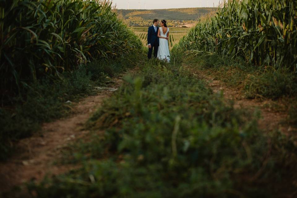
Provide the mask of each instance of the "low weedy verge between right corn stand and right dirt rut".
{"label": "low weedy verge between right corn stand and right dirt rut", "polygon": [[[183,51],[174,51],[173,56],[179,59]],[[241,88],[247,98],[279,99],[297,96],[297,78],[285,68],[262,69],[247,63],[242,58],[235,60],[217,54],[187,54],[179,63],[201,70],[214,79],[234,88]]]}

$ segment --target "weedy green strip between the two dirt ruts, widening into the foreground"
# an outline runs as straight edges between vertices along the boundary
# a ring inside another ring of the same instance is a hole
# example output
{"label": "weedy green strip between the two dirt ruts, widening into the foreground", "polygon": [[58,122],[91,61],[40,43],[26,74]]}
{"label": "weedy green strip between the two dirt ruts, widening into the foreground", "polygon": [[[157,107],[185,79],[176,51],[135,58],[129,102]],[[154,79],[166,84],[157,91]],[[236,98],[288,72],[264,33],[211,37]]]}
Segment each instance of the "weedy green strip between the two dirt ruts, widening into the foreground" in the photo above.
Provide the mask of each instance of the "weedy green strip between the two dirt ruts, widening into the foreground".
{"label": "weedy green strip between the two dirt ruts, widening into the foreground", "polygon": [[70,146],[64,163],[81,168],[30,183],[31,192],[157,198],[277,197],[294,191],[294,139],[259,130],[256,112],[234,109],[183,67],[140,63],[139,73],[127,77],[90,118],[93,136]]}

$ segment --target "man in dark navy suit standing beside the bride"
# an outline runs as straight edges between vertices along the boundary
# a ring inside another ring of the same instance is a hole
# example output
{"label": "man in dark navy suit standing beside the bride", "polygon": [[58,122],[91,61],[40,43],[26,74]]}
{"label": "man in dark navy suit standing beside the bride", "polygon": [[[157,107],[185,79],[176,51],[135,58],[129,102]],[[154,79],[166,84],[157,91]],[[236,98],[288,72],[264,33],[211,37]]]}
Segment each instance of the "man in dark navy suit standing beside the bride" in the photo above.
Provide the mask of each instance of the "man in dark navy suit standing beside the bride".
{"label": "man in dark navy suit standing beside the bride", "polygon": [[152,58],[153,48],[154,48],[154,57],[157,58],[158,47],[159,47],[158,25],[159,25],[159,20],[154,19],[153,26],[149,27],[149,30],[148,30],[148,44],[149,44],[148,59]]}

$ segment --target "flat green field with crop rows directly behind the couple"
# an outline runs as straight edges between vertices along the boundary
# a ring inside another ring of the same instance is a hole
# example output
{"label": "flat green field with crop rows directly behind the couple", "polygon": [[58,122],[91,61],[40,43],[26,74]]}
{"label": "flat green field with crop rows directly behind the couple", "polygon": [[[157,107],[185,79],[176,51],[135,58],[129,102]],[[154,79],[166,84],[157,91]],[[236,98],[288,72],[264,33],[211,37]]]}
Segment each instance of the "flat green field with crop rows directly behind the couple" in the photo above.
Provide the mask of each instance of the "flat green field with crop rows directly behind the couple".
{"label": "flat green field with crop rows directly behind the couple", "polygon": [[[148,28],[149,27],[131,27],[144,46],[148,45]],[[179,40],[187,34],[190,28],[170,27],[169,30],[169,49],[172,49],[173,45],[178,43]]]}

